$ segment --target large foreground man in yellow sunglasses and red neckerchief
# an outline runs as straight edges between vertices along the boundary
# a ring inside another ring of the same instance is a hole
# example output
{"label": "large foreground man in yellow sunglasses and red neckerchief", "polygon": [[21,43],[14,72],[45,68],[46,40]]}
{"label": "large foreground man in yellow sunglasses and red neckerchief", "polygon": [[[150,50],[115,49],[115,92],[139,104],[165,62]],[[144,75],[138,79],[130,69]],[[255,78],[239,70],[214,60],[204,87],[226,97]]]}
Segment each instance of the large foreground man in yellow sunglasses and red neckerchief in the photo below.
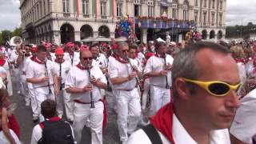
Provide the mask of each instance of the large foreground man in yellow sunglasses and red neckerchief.
{"label": "large foreground man in yellow sunglasses and red neckerchief", "polygon": [[[159,144],[230,144],[228,128],[240,105],[238,66],[230,51],[213,42],[186,47],[174,59],[172,82],[174,101],[128,143],[151,144],[158,138]],[[148,136],[151,132],[154,138]]]}

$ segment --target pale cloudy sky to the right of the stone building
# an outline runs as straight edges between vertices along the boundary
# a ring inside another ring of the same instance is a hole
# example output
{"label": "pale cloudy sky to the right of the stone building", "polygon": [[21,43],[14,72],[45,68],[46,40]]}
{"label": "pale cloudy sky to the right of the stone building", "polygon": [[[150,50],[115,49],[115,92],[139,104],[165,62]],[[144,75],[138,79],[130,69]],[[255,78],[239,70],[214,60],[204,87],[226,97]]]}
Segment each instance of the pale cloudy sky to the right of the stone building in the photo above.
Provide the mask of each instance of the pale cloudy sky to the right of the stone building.
{"label": "pale cloudy sky to the right of the stone building", "polygon": [[226,0],[226,26],[256,24],[255,0]]}

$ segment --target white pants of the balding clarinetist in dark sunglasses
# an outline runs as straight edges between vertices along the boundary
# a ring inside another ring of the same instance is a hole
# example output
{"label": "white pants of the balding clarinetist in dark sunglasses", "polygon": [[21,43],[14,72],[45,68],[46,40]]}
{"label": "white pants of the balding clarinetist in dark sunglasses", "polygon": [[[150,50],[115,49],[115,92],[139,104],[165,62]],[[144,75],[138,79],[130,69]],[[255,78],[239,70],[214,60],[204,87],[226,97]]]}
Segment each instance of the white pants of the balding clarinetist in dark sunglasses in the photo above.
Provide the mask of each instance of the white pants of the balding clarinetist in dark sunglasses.
{"label": "white pants of the balding clarinetist in dark sunglasses", "polygon": [[95,108],[91,109],[90,104],[74,102],[74,139],[78,144],[82,138],[84,126],[90,128],[91,144],[102,144],[102,122],[103,122],[103,102],[94,102]]}

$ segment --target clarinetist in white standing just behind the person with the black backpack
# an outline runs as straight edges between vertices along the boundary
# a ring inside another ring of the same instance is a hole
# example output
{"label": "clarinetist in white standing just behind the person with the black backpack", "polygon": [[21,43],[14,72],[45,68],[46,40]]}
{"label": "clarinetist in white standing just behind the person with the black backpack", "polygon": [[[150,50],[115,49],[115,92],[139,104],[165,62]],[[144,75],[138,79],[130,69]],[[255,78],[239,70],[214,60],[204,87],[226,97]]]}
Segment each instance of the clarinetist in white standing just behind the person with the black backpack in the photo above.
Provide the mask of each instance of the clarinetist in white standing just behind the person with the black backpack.
{"label": "clarinetist in white standing just behind the person with the black backpack", "polygon": [[44,120],[41,114],[41,103],[47,98],[55,99],[59,93],[57,73],[54,70],[53,62],[46,56],[46,47],[38,46],[37,56],[33,62],[30,62],[26,71],[26,81],[32,83],[34,87],[40,122]]}

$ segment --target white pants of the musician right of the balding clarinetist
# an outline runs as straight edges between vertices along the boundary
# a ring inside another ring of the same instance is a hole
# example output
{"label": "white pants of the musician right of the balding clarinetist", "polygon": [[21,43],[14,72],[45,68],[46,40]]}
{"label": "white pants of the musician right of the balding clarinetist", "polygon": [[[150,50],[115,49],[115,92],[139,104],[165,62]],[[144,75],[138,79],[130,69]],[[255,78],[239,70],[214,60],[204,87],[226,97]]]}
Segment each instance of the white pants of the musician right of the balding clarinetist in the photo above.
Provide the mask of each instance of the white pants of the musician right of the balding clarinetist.
{"label": "white pants of the musician right of the balding clarinetist", "polygon": [[136,130],[142,110],[138,89],[115,90],[118,102],[118,131],[121,141],[127,141],[128,134]]}

